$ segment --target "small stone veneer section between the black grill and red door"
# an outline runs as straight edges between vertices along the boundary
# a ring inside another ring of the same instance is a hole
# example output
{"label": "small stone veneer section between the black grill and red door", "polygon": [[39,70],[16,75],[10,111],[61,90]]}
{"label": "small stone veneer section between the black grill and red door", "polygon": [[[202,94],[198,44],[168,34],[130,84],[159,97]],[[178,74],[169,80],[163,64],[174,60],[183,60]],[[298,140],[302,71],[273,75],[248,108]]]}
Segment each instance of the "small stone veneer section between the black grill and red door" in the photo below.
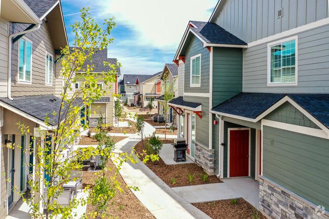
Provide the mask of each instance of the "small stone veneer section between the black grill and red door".
{"label": "small stone veneer section between the black grill and red door", "polygon": [[194,160],[208,174],[214,174],[214,155],[215,150],[210,150],[195,142]]}

